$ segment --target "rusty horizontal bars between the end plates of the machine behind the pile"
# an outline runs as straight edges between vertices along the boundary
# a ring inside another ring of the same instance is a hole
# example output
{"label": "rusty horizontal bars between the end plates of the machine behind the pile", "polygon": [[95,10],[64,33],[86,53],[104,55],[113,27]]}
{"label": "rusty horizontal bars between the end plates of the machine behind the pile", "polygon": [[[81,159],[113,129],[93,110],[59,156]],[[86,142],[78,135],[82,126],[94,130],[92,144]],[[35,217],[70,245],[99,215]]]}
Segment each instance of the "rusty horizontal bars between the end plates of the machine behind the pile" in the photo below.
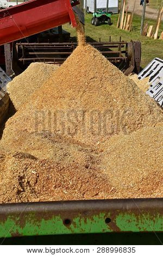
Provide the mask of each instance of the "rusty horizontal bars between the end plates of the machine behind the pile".
{"label": "rusty horizontal bars between the end plates of the machine behind the pile", "polygon": [[[117,60],[126,61],[127,42],[90,42],[90,44],[97,48],[108,60],[115,62]],[[54,59],[54,63],[58,61],[59,64],[62,64],[77,47],[77,43],[17,43],[16,47],[18,50],[18,61],[20,62],[35,62],[36,60],[46,62]],[[111,50],[111,48],[117,48],[117,51]],[[121,50],[122,48],[124,49],[123,51]],[[61,56],[65,56],[65,58]]]}

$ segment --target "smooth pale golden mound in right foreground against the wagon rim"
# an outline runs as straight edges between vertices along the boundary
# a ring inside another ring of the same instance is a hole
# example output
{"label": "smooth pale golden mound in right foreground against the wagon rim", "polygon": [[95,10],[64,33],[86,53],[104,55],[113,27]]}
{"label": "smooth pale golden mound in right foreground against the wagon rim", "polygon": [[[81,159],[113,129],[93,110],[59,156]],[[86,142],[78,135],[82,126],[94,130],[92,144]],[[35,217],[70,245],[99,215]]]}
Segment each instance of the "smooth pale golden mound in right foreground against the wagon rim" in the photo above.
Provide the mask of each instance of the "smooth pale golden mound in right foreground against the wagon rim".
{"label": "smooth pale golden mound in right foreground against the wagon rim", "polygon": [[122,198],[163,196],[163,126],[115,136],[105,147],[104,173]]}

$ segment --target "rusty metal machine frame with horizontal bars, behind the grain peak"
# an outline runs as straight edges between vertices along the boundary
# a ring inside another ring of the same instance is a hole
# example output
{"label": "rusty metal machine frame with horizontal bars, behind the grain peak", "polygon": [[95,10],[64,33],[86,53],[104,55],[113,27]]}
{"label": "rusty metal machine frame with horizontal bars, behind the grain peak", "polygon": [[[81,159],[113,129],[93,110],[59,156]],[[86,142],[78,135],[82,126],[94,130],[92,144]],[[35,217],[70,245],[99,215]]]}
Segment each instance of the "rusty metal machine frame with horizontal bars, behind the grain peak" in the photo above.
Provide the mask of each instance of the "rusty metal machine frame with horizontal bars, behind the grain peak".
{"label": "rusty metal machine frame with horizontal bars, behind the grain peak", "polygon": [[[125,42],[121,41],[121,38],[120,41],[115,42],[111,41],[110,38],[109,42],[101,42],[101,39],[99,39],[99,42],[89,42],[89,44],[97,48],[106,59],[114,63],[126,75],[133,71],[139,73],[141,62],[140,42]],[[32,62],[62,64],[76,47],[76,42],[17,42],[16,47],[13,49],[14,56],[16,56],[14,61],[18,63],[22,70],[26,69]]]}

